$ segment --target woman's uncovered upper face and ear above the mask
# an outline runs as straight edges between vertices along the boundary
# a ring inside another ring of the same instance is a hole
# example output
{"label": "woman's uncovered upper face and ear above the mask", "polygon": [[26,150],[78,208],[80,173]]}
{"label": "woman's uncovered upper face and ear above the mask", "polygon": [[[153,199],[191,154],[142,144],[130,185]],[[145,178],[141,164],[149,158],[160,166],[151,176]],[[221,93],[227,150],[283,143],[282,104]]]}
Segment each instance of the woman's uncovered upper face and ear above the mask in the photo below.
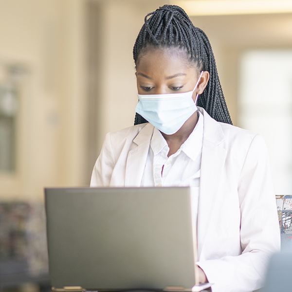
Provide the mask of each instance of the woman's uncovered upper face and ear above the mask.
{"label": "woman's uncovered upper face and ear above the mask", "polygon": [[[186,54],[177,48],[151,49],[139,58],[136,67],[139,94],[166,94],[192,91],[200,73],[190,64]],[[193,93],[201,94],[207,86],[209,73],[204,71]]]}

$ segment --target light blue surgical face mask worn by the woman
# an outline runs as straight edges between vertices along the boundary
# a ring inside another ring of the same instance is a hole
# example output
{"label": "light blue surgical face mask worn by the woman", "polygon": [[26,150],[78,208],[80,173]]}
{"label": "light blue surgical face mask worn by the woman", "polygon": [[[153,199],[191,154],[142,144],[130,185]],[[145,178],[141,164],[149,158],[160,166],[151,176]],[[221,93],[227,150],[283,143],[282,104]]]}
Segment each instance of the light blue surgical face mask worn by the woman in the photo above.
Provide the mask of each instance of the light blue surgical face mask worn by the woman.
{"label": "light blue surgical face mask worn by the woman", "polygon": [[197,88],[201,75],[192,91],[169,94],[138,94],[139,102],[136,112],[155,128],[166,135],[176,133],[185,121],[194,114],[199,94],[194,102],[192,96]]}

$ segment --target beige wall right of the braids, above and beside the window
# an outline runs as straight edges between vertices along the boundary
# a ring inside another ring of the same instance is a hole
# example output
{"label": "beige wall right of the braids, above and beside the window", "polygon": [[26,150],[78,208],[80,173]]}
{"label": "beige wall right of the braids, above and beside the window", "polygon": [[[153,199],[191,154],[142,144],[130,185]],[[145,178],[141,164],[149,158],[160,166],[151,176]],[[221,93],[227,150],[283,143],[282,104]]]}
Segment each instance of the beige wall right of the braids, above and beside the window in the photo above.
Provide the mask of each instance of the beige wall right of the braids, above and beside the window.
{"label": "beige wall right of the braids, above and beside the window", "polygon": [[240,126],[237,121],[240,56],[249,49],[292,48],[292,14],[204,16],[191,19],[210,39],[231,118],[235,125]]}

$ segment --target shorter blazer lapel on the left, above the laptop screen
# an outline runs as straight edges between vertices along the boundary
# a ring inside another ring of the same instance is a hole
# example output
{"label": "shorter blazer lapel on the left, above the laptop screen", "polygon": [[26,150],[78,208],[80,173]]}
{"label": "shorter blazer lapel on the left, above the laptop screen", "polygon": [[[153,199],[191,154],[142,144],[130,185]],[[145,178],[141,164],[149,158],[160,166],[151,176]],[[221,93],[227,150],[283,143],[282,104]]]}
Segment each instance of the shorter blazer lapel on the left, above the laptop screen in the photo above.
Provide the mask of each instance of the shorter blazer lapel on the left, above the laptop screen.
{"label": "shorter blazer lapel on the left, above the laptop screen", "polygon": [[141,186],[154,127],[146,125],[133,140],[137,147],[128,152],[125,186]]}

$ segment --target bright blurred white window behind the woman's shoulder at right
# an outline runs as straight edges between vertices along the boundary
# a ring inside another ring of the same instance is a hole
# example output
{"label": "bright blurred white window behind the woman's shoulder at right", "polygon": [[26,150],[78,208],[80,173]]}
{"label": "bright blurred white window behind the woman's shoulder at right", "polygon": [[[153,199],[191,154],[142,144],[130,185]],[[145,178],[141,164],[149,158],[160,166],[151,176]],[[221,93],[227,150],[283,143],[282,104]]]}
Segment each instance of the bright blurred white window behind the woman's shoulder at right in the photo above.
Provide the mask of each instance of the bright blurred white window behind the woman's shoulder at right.
{"label": "bright blurred white window behind the woman's shoulder at right", "polygon": [[263,136],[275,192],[292,194],[292,51],[248,51],[240,65],[239,126]]}

